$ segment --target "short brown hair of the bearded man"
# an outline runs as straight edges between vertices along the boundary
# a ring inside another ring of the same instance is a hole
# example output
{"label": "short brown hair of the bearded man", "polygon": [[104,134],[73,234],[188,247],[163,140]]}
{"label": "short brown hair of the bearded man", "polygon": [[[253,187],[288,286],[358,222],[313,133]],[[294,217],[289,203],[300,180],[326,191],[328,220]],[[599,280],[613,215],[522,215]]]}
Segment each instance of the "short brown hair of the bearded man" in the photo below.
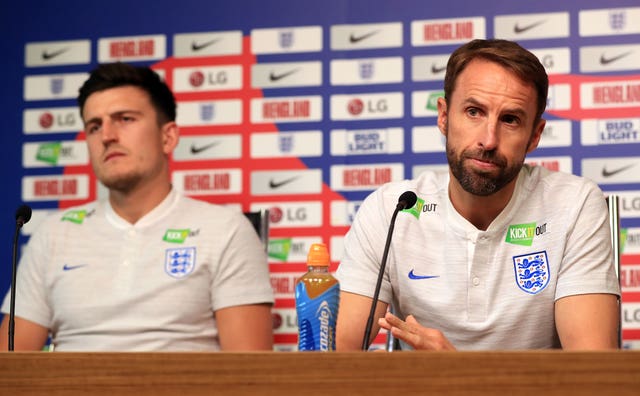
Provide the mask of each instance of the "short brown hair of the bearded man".
{"label": "short brown hair of the bearded man", "polygon": [[522,81],[533,85],[538,94],[535,122],[539,121],[547,107],[549,77],[535,55],[518,43],[508,40],[476,39],[462,45],[451,54],[444,77],[444,98],[447,104],[460,73],[477,58],[498,63],[515,73]]}

